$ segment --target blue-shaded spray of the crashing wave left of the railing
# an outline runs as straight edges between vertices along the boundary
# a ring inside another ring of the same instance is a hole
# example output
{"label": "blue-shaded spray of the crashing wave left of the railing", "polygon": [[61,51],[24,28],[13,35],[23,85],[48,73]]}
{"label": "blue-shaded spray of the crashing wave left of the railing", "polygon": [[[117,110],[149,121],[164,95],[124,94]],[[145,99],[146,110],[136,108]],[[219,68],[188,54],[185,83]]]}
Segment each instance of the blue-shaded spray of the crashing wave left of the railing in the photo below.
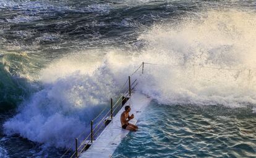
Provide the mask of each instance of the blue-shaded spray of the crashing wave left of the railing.
{"label": "blue-shaded spray of the crashing wave left of the railing", "polygon": [[103,64],[91,75],[76,71],[48,82],[4,124],[6,134],[19,133],[38,143],[68,148],[80,133],[88,133],[90,120],[114,96],[112,76]]}

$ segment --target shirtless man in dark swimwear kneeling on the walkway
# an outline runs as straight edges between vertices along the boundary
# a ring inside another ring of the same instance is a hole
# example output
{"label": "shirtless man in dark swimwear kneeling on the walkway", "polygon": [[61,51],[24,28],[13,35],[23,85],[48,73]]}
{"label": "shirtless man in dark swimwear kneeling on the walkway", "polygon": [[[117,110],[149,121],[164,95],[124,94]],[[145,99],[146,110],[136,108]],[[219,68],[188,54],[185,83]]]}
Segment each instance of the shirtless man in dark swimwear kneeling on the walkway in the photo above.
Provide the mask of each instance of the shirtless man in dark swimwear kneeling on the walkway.
{"label": "shirtless man in dark swimwear kneeling on the walkway", "polygon": [[125,111],[122,112],[122,114],[121,114],[121,125],[122,125],[122,128],[124,128],[126,130],[136,131],[138,129],[137,125],[129,123],[129,121],[131,119],[134,119],[134,114],[129,116],[130,106],[126,106],[126,107],[124,107],[124,109],[125,109]]}

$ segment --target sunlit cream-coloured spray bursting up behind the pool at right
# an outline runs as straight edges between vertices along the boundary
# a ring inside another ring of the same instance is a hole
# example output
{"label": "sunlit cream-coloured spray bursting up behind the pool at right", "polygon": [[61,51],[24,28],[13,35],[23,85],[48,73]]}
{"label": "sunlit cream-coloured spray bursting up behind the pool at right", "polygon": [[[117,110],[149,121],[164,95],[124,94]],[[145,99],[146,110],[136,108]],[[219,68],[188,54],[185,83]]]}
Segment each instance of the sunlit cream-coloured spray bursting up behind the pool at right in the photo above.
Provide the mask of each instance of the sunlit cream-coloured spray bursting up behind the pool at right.
{"label": "sunlit cream-coloured spray bursting up behind the pool at right", "polygon": [[140,60],[157,64],[145,65],[140,90],[164,104],[254,105],[255,14],[209,10],[198,17],[140,36],[147,44]]}

